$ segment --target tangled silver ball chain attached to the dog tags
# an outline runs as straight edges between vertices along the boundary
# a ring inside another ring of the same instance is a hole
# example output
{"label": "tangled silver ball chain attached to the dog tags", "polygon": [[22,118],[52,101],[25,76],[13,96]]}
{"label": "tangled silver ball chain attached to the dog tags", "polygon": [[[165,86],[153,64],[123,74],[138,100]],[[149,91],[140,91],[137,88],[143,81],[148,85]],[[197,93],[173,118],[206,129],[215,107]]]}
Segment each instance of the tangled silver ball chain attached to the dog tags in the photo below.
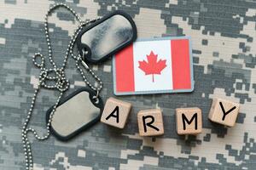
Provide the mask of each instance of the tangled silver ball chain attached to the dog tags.
{"label": "tangled silver ball chain attached to the dog tags", "polygon": [[[69,42],[69,45],[67,47],[67,52],[66,55],[64,57],[64,61],[63,61],[63,65],[61,66],[61,68],[57,68],[57,66],[55,65],[54,59],[52,58],[52,48],[51,48],[51,44],[50,44],[50,39],[49,39],[49,26],[48,26],[48,19],[49,19],[49,15],[56,9],[56,8],[66,8],[68,11],[70,11],[77,20],[79,20],[79,26],[76,29],[76,31],[74,31],[73,36],[71,41]],[[99,19],[96,19],[99,20]],[[96,20],[90,20],[88,22],[84,22],[80,19],[79,15],[75,13],[75,11],[73,10],[73,8],[68,7],[66,4],[64,3],[56,3],[53,7],[49,8],[48,12],[45,15],[45,22],[44,22],[44,29],[45,29],[45,37],[46,37],[46,42],[47,42],[47,46],[48,46],[48,58],[49,58],[49,62],[50,64],[53,66],[53,68],[51,69],[46,69],[45,65],[44,65],[44,56],[40,53],[37,53],[33,56],[32,61],[34,63],[34,65],[36,65],[39,69],[40,69],[40,75],[39,75],[39,83],[38,83],[38,88],[35,89],[35,92],[33,94],[32,97],[32,103],[30,105],[30,109],[27,113],[26,116],[26,120],[23,124],[22,127],[22,132],[21,132],[21,136],[22,136],[22,143],[23,143],[23,149],[24,149],[24,154],[25,154],[25,160],[26,160],[26,170],[32,170],[33,169],[33,159],[32,159],[32,149],[31,149],[31,142],[28,139],[28,133],[33,133],[35,138],[38,140],[45,140],[49,138],[49,129],[50,129],[50,125],[52,122],[52,117],[54,116],[55,110],[57,105],[59,105],[61,97],[63,95],[63,93],[65,91],[67,91],[67,89],[69,88],[69,82],[67,81],[67,77],[65,76],[65,67],[67,65],[67,59],[68,56],[71,55],[73,57],[73,59],[75,59],[76,61],[76,67],[79,70],[81,76],[84,79],[84,82],[86,83],[86,85],[88,85],[90,88],[92,88],[93,90],[96,91],[96,96],[94,96],[94,99],[97,100],[98,95],[102,89],[102,81],[99,77],[96,76],[96,74],[90,69],[90,67],[88,65],[86,65],[86,63],[84,62],[84,54],[83,56],[76,56],[73,54],[73,47],[74,47],[74,43],[76,38],[79,35],[79,31],[82,30],[83,26],[87,26],[92,22],[95,22]],[[41,62],[38,62],[38,59]],[[80,65],[84,66],[84,69],[86,71],[88,71],[92,77],[95,78],[96,82],[98,82],[98,86],[95,87],[92,84],[90,84],[90,82],[87,80],[87,78],[84,76],[84,71],[83,69],[80,67]],[[54,75],[54,76],[49,76],[49,75]],[[55,84],[50,85],[49,83],[47,83],[48,81],[50,82],[55,82]],[[38,92],[40,91],[41,88],[48,88],[48,89],[57,89],[60,94],[55,102],[55,105],[53,106],[53,110],[51,111],[50,115],[49,115],[49,122],[46,125],[46,134],[44,134],[44,136],[39,136],[37,131],[35,129],[33,129],[32,127],[29,127],[28,124],[30,122],[31,116],[32,116],[32,111],[38,96]]]}

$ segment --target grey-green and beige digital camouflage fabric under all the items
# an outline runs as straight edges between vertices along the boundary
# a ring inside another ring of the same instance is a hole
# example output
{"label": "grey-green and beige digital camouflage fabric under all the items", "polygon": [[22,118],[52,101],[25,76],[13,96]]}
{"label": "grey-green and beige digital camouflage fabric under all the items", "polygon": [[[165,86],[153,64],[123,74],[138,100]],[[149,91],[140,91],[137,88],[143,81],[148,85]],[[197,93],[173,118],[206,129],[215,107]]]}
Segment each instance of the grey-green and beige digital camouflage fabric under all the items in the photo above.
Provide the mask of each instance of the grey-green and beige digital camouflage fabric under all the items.
{"label": "grey-green and beige digital camouflage fabric under all the items", "polygon": [[[166,170],[255,169],[256,161],[256,2],[255,0],[1,0],[0,1],[0,169],[24,169],[21,124],[26,118],[38,69],[32,55],[47,55],[44,14],[54,3],[67,3],[84,20],[122,9],[137,24],[138,37],[190,36],[193,43],[195,91],[191,94],[154,94],[118,97],[133,105],[124,130],[102,123],[67,143],[53,136],[38,142],[33,137],[36,170]],[[66,10],[50,18],[54,59],[59,65],[76,22]],[[49,65],[50,66],[50,65]],[[93,65],[102,78],[102,97],[113,96],[112,64]],[[84,86],[68,61],[68,93]],[[45,133],[45,112],[57,92],[42,91],[32,127]],[[223,127],[207,120],[213,97],[241,104],[236,126]],[[178,136],[174,109],[198,106],[203,112],[203,133]],[[138,135],[137,111],[160,107],[165,135]]]}

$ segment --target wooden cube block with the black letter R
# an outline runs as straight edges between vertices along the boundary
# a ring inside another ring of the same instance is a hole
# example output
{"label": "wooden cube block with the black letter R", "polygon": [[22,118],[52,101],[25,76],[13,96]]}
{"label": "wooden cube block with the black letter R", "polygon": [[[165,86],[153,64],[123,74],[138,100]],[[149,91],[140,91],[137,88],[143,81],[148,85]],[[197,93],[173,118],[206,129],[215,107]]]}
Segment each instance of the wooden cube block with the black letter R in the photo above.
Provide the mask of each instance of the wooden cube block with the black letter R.
{"label": "wooden cube block with the black letter R", "polygon": [[137,113],[140,136],[164,134],[163,116],[160,109],[143,110]]}

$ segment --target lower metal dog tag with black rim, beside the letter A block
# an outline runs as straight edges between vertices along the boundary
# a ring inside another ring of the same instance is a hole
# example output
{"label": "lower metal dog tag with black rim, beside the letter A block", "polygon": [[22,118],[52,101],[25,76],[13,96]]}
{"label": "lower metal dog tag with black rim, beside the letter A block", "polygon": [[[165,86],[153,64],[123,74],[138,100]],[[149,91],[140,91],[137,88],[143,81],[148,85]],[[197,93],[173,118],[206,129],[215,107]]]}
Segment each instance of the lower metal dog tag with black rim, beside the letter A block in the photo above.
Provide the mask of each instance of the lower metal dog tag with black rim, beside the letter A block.
{"label": "lower metal dog tag with black rim, beside the letter A block", "polygon": [[[100,97],[93,99],[96,93],[90,88],[80,88],[56,107],[51,122],[51,132],[57,139],[67,140],[100,121],[103,102]],[[47,111],[46,122],[53,107]]]}

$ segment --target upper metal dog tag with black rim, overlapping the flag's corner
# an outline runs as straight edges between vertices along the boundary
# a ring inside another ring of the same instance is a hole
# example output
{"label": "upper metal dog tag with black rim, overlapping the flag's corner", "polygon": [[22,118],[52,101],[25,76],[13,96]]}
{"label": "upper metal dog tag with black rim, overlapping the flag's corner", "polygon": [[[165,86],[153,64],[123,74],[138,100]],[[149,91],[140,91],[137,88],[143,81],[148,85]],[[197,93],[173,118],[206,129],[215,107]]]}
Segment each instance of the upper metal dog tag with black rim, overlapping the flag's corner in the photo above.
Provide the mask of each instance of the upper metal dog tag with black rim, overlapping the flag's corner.
{"label": "upper metal dog tag with black rim, overlapping the flag's corner", "polygon": [[79,32],[77,44],[85,61],[98,63],[134,42],[137,29],[129,14],[115,11]]}

